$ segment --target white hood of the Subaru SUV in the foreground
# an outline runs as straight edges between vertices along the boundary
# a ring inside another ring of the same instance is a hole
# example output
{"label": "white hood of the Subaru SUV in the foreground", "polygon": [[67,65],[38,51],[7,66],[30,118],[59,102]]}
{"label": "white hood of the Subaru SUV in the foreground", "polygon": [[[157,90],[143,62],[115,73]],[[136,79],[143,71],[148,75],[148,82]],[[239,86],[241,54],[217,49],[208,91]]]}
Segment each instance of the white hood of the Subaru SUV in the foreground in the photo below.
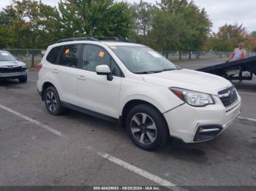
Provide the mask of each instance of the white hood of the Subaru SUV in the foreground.
{"label": "white hood of the Subaru SUV in the foreground", "polygon": [[232,84],[222,77],[207,74],[201,71],[178,69],[155,74],[142,74],[145,82],[165,87],[180,87],[201,93],[217,95],[219,90],[230,87]]}

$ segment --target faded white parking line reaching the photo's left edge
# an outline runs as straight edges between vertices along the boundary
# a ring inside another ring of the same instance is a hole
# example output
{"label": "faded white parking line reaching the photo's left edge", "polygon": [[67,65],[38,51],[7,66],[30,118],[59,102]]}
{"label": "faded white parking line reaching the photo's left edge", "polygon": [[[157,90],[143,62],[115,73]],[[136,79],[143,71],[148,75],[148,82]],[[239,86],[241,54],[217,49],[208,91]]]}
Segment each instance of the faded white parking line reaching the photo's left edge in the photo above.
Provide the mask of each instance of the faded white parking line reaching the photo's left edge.
{"label": "faded white parking line reaching the photo's left edge", "polygon": [[16,112],[16,111],[14,111],[14,110],[8,108],[7,106],[3,106],[3,105],[0,104],[0,108],[6,110],[7,112],[10,112],[10,113],[12,113],[12,114],[15,114],[16,116],[21,117],[21,118],[23,118],[24,120],[26,120],[26,121],[28,121],[28,122],[34,123],[35,125],[39,126],[40,128],[44,128],[45,130],[50,131],[50,133],[53,133],[53,134],[55,134],[56,136],[61,136],[61,137],[63,137],[63,138],[67,138],[67,136],[65,136],[65,135],[64,135],[63,133],[61,133],[59,130],[50,128],[48,125],[44,125],[44,124],[42,124],[41,122],[39,122],[39,121],[37,121],[37,120],[33,120],[32,118],[27,117],[27,116],[24,115],[24,114],[20,114],[19,112]]}

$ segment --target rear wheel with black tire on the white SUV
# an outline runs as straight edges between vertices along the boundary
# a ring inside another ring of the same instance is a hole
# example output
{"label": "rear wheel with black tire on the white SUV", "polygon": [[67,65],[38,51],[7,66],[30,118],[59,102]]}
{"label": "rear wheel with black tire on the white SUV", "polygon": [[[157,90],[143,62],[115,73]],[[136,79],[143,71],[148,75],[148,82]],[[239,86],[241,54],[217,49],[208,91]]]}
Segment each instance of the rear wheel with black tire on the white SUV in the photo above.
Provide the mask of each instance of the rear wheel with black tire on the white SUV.
{"label": "rear wheel with black tire on the white SUV", "polygon": [[60,115],[64,113],[64,107],[61,106],[59,93],[53,86],[48,87],[44,93],[45,106],[50,114]]}

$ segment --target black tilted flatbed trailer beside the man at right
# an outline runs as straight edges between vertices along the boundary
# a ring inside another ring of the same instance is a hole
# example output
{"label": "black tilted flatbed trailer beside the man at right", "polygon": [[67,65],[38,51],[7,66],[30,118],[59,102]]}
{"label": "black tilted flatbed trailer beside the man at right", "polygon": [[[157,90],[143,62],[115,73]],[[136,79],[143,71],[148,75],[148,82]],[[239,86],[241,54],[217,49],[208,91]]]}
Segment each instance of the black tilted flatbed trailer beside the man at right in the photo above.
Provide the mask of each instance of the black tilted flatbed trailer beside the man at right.
{"label": "black tilted flatbed trailer beside the man at right", "polygon": [[208,66],[197,71],[216,74],[229,80],[252,80],[253,74],[256,75],[256,56]]}

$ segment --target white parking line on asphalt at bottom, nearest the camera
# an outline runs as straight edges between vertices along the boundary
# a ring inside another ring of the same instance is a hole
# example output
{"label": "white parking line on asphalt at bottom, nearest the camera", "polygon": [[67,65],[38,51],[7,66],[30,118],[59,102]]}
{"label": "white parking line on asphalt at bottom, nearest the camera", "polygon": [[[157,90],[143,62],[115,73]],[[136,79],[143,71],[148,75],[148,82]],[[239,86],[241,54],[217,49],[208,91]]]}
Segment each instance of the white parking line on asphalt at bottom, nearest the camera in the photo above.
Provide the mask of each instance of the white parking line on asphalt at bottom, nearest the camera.
{"label": "white parking line on asphalt at bottom, nearest the camera", "polygon": [[156,176],[154,174],[149,173],[148,171],[144,171],[141,168],[136,167],[135,165],[131,165],[124,160],[120,160],[117,157],[113,157],[111,155],[108,155],[105,152],[98,152],[97,153],[100,157],[103,157],[105,159],[110,160],[113,163],[116,163],[117,165],[120,165],[123,168],[126,168],[129,171],[134,172],[135,174],[139,174],[140,176],[143,176],[146,179],[151,180],[152,182],[155,182],[163,187],[171,187],[171,190],[174,191],[181,191],[184,190],[181,187],[178,187],[176,184],[173,184],[172,182],[169,182],[165,179],[160,178],[159,176]]}

